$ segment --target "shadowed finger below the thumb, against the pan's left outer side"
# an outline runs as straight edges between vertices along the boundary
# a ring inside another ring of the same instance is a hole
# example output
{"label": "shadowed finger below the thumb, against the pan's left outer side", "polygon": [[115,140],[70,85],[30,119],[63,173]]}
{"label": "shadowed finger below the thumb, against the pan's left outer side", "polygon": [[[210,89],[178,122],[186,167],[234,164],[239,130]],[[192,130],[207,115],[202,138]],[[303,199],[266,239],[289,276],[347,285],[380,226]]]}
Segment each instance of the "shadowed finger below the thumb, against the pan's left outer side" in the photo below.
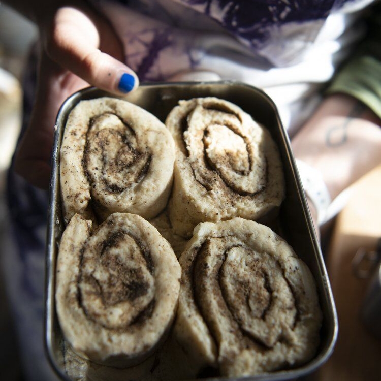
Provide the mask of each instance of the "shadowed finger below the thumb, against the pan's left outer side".
{"label": "shadowed finger below the thumb, against the pan's left outer side", "polygon": [[43,53],[33,114],[18,146],[15,171],[31,184],[47,189],[51,172],[51,149],[55,118],[70,94],[88,83],[62,70]]}

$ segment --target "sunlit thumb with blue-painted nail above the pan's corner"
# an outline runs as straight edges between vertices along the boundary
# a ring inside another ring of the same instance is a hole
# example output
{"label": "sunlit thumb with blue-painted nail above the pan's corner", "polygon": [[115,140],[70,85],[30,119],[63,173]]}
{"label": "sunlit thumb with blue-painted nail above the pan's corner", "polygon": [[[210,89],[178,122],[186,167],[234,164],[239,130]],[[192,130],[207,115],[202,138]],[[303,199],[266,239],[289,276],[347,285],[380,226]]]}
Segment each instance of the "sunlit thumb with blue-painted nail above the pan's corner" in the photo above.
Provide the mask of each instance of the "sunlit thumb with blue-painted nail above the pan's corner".
{"label": "sunlit thumb with blue-painted nail above the pan's corner", "polygon": [[113,50],[112,54],[116,55],[115,48],[110,46],[115,47],[119,41],[111,26],[96,15],[63,8],[57,13],[53,30],[47,36],[49,56],[89,84],[117,94],[138,87],[135,72],[119,60],[123,56],[121,52],[116,59],[100,50]]}

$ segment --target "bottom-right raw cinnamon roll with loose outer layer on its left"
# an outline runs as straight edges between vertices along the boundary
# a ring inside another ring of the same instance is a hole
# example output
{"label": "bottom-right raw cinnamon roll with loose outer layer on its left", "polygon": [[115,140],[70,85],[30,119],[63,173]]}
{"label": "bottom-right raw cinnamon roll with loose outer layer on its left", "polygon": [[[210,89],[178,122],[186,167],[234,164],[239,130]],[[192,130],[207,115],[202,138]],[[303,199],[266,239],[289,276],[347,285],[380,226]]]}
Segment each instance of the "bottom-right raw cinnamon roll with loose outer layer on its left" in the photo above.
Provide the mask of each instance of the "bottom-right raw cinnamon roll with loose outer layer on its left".
{"label": "bottom-right raw cinnamon roll with loose outer layer on its left", "polygon": [[200,368],[256,375],[314,356],[322,321],[314,279],[270,228],[239,217],[201,223],[179,261],[174,332]]}

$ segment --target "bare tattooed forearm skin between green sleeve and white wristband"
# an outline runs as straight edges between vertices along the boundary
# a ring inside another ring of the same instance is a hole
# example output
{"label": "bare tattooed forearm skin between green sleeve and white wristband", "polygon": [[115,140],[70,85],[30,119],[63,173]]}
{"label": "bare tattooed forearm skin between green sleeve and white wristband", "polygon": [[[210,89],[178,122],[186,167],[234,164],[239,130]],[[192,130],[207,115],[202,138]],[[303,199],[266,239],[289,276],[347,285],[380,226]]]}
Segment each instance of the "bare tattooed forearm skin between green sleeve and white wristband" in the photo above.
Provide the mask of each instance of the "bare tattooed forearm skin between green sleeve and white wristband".
{"label": "bare tattooed forearm skin between green sleeve and white wristband", "polygon": [[294,154],[322,173],[334,199],[381,163],[380,123],[358,100],[333,94],[293,139]]}

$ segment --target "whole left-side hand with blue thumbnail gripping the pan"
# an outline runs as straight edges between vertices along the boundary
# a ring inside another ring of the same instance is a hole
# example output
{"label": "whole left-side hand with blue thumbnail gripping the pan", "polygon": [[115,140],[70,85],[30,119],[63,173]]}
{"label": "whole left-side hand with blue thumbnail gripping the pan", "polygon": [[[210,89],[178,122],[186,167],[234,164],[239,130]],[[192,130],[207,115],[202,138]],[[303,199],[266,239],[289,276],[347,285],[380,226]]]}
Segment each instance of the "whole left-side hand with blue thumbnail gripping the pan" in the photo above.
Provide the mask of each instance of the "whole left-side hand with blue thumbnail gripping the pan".
{"label": "whole left-side hand with blue thumbnail gripping the pan", "polygon": [[37,17],[41,55],[33,114],[19,144],[15,170],[31,184],[47,188],[53,126],[60,105],[93,85],[115,94],[134,90],[136,74],[111,25],[87,7],[61,7]]}

